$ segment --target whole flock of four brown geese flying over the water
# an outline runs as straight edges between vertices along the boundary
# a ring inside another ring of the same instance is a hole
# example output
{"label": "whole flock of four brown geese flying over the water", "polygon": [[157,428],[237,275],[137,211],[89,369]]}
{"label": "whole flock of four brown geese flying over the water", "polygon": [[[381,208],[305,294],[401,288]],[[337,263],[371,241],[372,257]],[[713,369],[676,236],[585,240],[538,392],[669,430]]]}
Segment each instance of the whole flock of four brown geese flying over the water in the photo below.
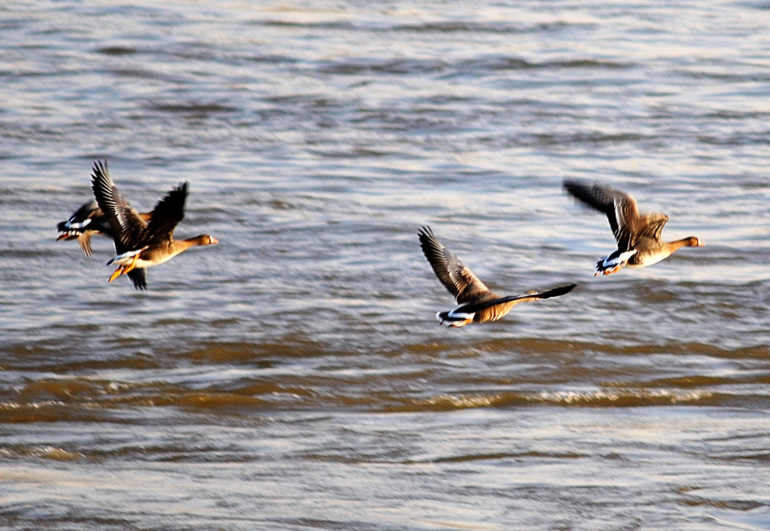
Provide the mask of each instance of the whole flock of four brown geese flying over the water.
{"label": "whole flock of four brown geese flying over the water", "polygon": [[[91,175],[94,200],[83,204],[67,221],[58,225],[57,240],[77,239],[86,257],[91,255],[91,236],[103,234],[115,242],[115,258],[107,265],[118,266],[108,282],[121,275],[131,279],[136,289],[146,289],[145,269],[167,262],[193,245],[211,245],[219,240],[208,234],[175,240],[174,229],[184,218],[187,185],[182,182],[161,199],[152,212],[139,213],[120,195],[109,177],[107,162],[96,161]],[[682,247],[703,247],[695,236],[661,241],[668,215],[660,212],[640,214],[636,200],[621,190],[597,182],[564,180],[564,189],[576,199],[604,212],[618,242],[618,249],[600,259],[594,276],[610,275],[624,266],[647,267]],[[501,297],[463,265],[439,242],[430,226],[423,226],[417,236],[420,247],[434,273],[457,300],[458,306],[438,312],[436,318],[445,326],[465,326],[471,322],[497,321],[520,302],[531,302],[565,295],[577,284],[559,286],[544,292]]]}

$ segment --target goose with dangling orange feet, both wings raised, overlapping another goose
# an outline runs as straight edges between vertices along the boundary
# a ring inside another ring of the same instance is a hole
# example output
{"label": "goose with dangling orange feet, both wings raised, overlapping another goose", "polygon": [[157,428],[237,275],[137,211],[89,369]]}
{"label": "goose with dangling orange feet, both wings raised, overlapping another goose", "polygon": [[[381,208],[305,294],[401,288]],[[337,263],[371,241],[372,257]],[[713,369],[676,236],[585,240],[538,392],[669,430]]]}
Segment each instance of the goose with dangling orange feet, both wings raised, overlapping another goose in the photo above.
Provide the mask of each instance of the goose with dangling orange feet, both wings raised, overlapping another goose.
{"label": "goose with dangling orange feet, both wings raised, overlapping another goose", "polygon": [[96,161],[91,176],[94,197],[115,239],[117,256],[107,265],[116,264],[119,267],[108,282],[127,274],[136,289],[146,289],[144,269],[167,262],[193,245],[219,243],[218,239],[208,234],[183,240],[173,238],[176,225],[184,218],[188,182],[171,189],[152,209],[148,222],[120,195],[109,177],[106,162]]}

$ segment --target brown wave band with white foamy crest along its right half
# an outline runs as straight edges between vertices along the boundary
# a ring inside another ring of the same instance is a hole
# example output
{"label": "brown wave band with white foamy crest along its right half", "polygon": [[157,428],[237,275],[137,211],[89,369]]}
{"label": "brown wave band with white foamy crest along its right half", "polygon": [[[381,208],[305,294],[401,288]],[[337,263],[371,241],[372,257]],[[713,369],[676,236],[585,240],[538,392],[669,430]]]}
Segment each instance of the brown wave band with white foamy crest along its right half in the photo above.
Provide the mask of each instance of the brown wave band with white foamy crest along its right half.
{"label": "brown wave band with white foamy crest along its right half", "polygon": [[[497,392],[420,392],[413,377],[398,380],[410,387],[384,385],[381,379],[354,385],[340,379],[292,377],[290,385],[276,382],[240,382],[235,389],[189,389],[166,382],[129,384],[84,379],[39,380],[18,391],[3,392],[2,422],[52,422],[71,419],[107,419],[109,410],[126,407],[163,407],[212,411],[219,415],[263,410],[318,409],[367,410],[373,412],[446,412],[460,409],[508,408],[517,406],[747,406],[767,407],[770,396],[752,389],[730,392],[705,385],[685,387],[602,387],[592,390],[533,390]],[[328,381],[326,381],[328,380]],[[689,379],[688,379],[689,380]],[[767,381],[768,378],[765,378]],[[326,381],[326,386],[320,386]],[[708,379],[705,380],[708,383]],[[733,382],[735,383],[735,382]],[[429,383],[423,386],[430,387]],[[437,384],[437,386],[441,386]],[[347,391],[345,391],[347,389]]]}

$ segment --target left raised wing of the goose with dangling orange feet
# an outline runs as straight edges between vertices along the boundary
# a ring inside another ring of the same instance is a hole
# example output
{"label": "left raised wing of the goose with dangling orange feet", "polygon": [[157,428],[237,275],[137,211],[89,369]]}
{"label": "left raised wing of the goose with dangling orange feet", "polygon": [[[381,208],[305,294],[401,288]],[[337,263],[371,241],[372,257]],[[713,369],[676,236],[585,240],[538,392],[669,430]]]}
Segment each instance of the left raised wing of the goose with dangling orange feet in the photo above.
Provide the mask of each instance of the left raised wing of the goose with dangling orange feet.
{"label": "left raised wing of the goose with dangling orange feet", "polygon": [[96,202],[99,204],[99,209],[102,209],[109,226],[112,228],[115,249],[117,249],[118,242],[127,251],[137,249],[136,245],[146,222],[118,192],[115,183],[109,178],[106,161],[94,162],[91,188]]}

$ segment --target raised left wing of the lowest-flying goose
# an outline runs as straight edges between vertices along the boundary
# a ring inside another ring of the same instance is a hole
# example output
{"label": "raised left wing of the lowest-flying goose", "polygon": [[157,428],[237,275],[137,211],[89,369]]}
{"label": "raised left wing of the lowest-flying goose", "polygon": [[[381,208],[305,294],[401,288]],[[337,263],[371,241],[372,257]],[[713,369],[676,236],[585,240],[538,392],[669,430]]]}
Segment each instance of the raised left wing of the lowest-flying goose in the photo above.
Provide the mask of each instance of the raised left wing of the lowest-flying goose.
{"label": "raised left wing of the lowest-flying goose", "polygon": [[420,247],[425,258],[430,262],[434,273],[457,302],[475,302],[484,297],[494,297],[494,293],[474,275],[463,262],[456,259],[449,250],[441,245],[429,226],[417,231]]}

